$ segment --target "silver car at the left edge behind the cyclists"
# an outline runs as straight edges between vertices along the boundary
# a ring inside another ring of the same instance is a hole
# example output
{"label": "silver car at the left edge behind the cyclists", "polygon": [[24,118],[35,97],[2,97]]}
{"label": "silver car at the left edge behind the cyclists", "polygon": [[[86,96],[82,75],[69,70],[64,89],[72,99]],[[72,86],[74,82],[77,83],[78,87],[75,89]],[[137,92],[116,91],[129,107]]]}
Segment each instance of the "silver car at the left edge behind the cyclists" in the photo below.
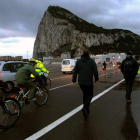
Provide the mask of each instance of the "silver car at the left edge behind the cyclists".
{"label": "silver car at the left edge behind the cyclists", "polygon": [[[27,62],[22,61],[0,61],[0,88],[4,92],[10,92],[17,87],[15,74],[19,68],[23,67]],[[6,83],[6,87],[3,86]]]}

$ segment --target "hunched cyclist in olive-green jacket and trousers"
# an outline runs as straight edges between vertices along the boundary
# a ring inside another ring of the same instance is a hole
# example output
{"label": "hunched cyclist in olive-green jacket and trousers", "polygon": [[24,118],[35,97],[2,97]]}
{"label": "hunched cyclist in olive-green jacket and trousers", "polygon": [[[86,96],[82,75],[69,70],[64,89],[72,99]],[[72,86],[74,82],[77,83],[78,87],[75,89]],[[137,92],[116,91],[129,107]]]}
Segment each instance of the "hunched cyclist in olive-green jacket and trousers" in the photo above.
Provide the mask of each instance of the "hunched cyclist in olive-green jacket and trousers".
{"label": "hunched cyclist in olive-green jacket and trousers", "polygon": [[24,67],[20,68],[16,75],[15,80],[19,85],[23,85],[30,89],[28,94],[28,100],[33,101],[34,99],[34,93],[35,93],[35,84],[30,80],[30,75],[33,74],[39,83],[42,85],[42,78],[39,76],[39,74],[35,71],[36,68],[36,60],[31,58],[29,60],[29,63],[26,64]]}

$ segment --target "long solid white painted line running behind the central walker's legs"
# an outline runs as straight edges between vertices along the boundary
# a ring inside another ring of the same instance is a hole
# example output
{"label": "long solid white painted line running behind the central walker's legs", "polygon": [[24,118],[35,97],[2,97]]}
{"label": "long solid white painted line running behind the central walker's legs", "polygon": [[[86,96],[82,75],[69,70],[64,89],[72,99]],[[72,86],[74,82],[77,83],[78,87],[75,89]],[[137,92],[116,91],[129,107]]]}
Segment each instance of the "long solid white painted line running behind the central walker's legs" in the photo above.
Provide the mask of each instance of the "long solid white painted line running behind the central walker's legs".
{"label": "long solid white painted line running behind the central walker's legs", "polygon": [[[104,90],[103,92],[101,92],[98,95],[96,95],[95,97],[93,97],[92,100],[91,100],[91,103],[93,101],[97,100],[99,97],[103,96],[105,93],[107,93],[108,91],[110,91],[111,89],[116,87],[117,85],[119,85],[120,83],[122,83],[123,81],[124,81],[124,79],[122,79],[121,81],[119,81],[115,85],[111,86],[110,88]],[[53,128],[57,127],[58,125],[63,123],[65,120],[69,119],[74,114],[79,112],[82,109],[82,107],[83,107],[83,105],[80,105],[79,107],[75,108],[71,112],[67,113],[66,115],[64,115],[63,117],[59,118],[58,120],[56,120],[55,122],[51,123],[50,125],[44,127],[43,129],[41,129],[40,131],[38,131],[35,134],[31,135],[30,137],[26,138],[25,140],[36,140],[36,139],[40,138],[41,136],[43,136],[44,134],[48,133]]]}

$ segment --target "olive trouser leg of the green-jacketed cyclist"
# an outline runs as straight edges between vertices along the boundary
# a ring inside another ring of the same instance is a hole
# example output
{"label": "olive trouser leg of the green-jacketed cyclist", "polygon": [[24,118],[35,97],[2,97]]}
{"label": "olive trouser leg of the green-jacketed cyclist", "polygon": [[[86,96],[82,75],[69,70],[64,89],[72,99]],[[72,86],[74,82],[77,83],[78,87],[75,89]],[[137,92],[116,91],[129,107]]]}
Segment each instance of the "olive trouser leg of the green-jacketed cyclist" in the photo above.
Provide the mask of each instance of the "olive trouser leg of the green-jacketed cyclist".
{"label": "olive trouser leg of the green-jacketed cyclist", "polygon": [[30,90],[28,93],[29,100],[34,98],[35,84],[33,82],[26,82],[25,86]]}

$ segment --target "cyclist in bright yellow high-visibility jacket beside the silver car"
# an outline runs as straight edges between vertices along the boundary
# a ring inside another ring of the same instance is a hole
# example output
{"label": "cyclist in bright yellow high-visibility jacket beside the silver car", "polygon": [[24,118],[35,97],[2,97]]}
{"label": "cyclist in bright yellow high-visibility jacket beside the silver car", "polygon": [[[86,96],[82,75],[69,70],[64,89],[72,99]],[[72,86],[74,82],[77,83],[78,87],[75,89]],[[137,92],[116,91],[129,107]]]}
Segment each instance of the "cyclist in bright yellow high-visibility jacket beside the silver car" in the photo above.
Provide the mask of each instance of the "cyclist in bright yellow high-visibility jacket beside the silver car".
{"label": "cyclist in bright yellow high-visibility jacket beside the silver car", "polygon": [[[42,72],[45,72],[47,76],[49,74],[49,71],[44,67],[44,65],[42,63],[43,62],[43,59],[42,58],[39,58],[38,60],[36,60],[36,62],[37,62],[36,72],[39,73],[39,75],[44,79],[44,84],[46,84],[46,80],[45,80],[46,77],[41,74],[41,71]],[[34,78],[34,75],[33,74],[31,74],[31,78]]]}

